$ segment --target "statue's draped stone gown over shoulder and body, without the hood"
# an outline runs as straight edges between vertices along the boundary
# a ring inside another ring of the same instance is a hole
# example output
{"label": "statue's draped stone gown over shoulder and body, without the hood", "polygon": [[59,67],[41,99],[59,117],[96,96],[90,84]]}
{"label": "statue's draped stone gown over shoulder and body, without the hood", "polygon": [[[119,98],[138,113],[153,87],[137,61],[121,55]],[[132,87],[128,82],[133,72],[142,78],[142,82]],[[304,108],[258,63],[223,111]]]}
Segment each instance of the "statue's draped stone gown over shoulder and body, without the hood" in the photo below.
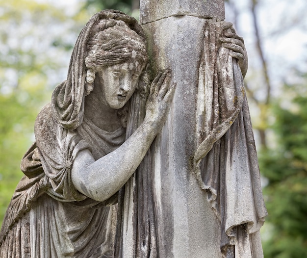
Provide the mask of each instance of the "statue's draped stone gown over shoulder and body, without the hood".
{"label": "statue's draped stone gown over shoulder and body, without the hood", "polygon": [[116,206],[110,205],[117,195],[103,203],[84,196],[73,186],[71,166],[81,150],[89,149],[96,160],[115,150],[125,129],[106,132],[85,116],[77,129],[64,129],[47,105],[35,136],[22,161],[26,175],[4,218],[0,257],[113,257]]}

